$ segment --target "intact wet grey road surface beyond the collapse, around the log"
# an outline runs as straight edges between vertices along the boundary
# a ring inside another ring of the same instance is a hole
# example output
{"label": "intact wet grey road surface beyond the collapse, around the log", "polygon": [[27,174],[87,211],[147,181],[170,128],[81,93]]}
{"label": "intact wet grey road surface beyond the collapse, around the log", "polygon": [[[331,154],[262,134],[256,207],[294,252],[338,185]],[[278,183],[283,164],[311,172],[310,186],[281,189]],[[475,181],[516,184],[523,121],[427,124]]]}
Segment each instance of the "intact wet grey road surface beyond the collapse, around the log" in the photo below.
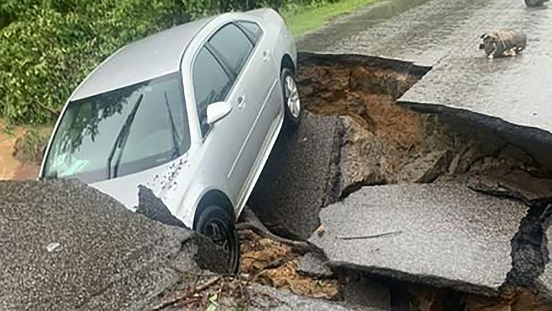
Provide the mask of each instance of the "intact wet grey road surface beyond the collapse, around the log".
{"label": "intact wet grey road surface beyond the collapse, around the log", "polygon": [[[522,55],[491,60],[477,49],[480,35],[500,28],[526,33]],[[521,0],[396,0],[338,19],[299,39],[299,48],[431,66],[400,102],[421,111],[462,109],[474,113],[466,115],[474,120],[502,129],[513,126],[510,132],[528,131],[526,136],[551,142],[551,30],[552,8],[526,8]]]}

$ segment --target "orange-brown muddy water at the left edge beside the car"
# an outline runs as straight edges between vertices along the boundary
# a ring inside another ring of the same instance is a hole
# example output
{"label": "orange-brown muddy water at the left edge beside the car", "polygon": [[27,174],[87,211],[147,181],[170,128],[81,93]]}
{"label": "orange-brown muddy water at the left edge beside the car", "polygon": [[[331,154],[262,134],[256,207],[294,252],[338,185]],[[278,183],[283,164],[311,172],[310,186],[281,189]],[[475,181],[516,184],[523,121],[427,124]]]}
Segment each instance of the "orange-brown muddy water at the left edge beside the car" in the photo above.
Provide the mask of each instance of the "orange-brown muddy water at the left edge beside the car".
{"label": "orange-brown muddy water at the left edge beside the car", "polygon": [[13,156],[15,142],[23,133],[23,129],[6,133],[0,124],[0,180],[30,180],[38,176],[38,163],[21,162]]}

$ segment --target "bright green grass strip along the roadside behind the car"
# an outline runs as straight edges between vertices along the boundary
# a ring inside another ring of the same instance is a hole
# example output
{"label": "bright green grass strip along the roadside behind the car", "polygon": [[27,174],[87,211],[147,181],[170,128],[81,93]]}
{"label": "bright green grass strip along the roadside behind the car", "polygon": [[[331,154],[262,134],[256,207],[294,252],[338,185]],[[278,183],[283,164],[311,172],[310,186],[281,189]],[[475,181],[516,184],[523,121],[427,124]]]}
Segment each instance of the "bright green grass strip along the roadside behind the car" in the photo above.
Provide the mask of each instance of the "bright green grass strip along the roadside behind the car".
{"label": "bright green grass strip along the roadside behind the car", "polygon": [[326,25],[339,15],[377,1],[379,0],[337,0],[316,6],[286,6],[282,9],[282,16],[293,35],[298,37]]}

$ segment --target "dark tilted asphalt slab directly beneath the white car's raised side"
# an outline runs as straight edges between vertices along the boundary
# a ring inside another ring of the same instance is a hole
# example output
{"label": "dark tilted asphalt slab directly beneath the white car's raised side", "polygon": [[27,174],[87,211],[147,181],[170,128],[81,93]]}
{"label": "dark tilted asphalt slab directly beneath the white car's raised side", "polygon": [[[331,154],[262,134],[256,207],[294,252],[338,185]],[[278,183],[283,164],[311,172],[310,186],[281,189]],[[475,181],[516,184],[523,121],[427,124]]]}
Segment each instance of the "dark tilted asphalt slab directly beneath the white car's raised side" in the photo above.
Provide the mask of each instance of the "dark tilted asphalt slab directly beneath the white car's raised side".
{"label": "dark tilted asphalt slab directly beneath the white car's raised side", "polygon": [[305,113],[299,131],[280,135],[248,205],[270,231],[306,240],[335,199],[331,165],[339,118]]}

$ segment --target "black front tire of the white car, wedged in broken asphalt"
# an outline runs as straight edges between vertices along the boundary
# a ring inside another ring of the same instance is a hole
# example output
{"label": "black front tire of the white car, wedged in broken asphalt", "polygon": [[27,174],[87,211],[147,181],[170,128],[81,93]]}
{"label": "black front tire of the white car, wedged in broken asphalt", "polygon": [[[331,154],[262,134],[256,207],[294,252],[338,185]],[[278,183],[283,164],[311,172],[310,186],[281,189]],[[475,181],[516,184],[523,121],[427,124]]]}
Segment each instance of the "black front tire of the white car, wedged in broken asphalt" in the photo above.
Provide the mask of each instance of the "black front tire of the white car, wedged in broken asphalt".
{"label": "black front tire of the white car, wedged in broken asphalt", "polygon": [[233,215],[216,204],[208,205],[199,215],[196,230],[226,249],[228,273],[236,274],[239,269],[239,239]]}

